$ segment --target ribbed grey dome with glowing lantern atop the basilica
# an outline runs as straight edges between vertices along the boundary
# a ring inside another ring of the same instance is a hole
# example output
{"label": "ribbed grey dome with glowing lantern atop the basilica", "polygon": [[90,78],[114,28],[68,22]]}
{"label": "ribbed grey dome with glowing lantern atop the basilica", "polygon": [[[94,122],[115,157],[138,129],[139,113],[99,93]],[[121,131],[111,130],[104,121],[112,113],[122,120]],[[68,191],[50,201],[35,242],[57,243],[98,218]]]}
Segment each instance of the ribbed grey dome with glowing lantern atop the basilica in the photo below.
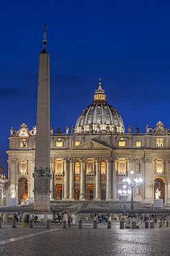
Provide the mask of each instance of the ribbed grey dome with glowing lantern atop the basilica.
{"label": "ribbed grey dome with glowing lantern atop the basilica", "polygon": [[92,104],[83,109],[76,121],[76,133],[123,133],[123,120],[118,111],[107,103],[101,82],[95,91]]}

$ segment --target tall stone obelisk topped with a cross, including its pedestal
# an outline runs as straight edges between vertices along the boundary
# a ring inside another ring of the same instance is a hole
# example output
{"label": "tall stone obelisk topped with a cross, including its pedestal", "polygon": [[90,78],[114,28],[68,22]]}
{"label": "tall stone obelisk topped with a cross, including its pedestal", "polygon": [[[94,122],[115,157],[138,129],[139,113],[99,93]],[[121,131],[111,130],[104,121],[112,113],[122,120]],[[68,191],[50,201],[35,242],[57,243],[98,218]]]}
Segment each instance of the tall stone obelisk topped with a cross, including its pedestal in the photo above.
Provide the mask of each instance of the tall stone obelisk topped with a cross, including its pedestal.
{"label": "tall stone obelisk topped with a cross, including its pedestal", "polygon": [[43,51],[39,53],[39,84],[36,112],[34,167],[34,211],[50,212],[50,57],[46,51],[44,24]]}

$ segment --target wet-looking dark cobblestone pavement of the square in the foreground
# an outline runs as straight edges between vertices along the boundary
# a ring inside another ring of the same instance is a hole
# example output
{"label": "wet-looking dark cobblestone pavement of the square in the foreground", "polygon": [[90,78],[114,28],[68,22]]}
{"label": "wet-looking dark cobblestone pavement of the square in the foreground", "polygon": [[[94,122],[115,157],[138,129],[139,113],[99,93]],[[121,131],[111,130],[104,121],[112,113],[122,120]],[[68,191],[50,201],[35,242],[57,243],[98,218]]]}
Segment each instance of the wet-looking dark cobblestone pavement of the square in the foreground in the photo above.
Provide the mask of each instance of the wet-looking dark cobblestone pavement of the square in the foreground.
{"label": "wet-looking dark cobblestone pavement of the square in the foreground", "polygon": [[50,229],[43,223],[34,223],[34,228],[11,226],[2,223],[0,228],[0,255],[170,255],[170,228],[120,230],[119,223],[111,223],[111,229],[103,223],[94,229],[92,222],[82,229],[78,225],[63,229],[59,223],[51,223]]}

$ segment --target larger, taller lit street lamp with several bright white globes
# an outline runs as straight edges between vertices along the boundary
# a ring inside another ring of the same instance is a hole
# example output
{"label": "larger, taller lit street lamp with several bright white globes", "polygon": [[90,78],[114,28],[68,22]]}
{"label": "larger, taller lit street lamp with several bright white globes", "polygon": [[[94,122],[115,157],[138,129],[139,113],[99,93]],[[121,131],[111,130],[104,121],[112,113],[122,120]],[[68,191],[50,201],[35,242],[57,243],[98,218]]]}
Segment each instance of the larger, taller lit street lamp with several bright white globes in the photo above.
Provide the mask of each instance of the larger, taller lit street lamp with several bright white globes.
{"label": "larger, taller lit street lamp with several bright white globes", "polygon": [[[127,185],[131,187],[131,212],[134,210],[134,188],[138,187],[142,183],[142,178],[137,178],[133,176],[134,170],[131,170],[131,179],[124,178],[123,182],[127,182]],[[132,214],[133,215],[133,214]]]}

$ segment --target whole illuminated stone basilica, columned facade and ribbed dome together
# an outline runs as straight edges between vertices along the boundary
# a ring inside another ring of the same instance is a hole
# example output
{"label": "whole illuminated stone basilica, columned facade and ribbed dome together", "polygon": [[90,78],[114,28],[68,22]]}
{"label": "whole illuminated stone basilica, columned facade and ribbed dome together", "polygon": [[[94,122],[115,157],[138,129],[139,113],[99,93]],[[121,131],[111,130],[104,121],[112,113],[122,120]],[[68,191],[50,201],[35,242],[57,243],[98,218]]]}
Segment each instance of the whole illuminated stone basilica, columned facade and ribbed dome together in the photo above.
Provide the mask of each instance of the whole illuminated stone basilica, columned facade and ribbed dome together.
{"label": "whole illuminated stone basilica, columned facade and ribbed dome together", "polygon": [[[12,192],[21,203],[34,202],[34,158],[36,127],[23,123],[11,129],[8,150],[8,197]],[[101,82],[92,104],[65,133],[50,130],[51,201],[118,201],[124,178],[137,177],[142,183],[134,189],[134,200],[170,203],[170,131],[161,121],[156,127],[138,127],[125,132],[123,119],[107,103]],[[133,177],[131,170],[134,170]],[[158,193],[159,192],[159,196]],[[128,196],[127,199],[130,199]]]}

